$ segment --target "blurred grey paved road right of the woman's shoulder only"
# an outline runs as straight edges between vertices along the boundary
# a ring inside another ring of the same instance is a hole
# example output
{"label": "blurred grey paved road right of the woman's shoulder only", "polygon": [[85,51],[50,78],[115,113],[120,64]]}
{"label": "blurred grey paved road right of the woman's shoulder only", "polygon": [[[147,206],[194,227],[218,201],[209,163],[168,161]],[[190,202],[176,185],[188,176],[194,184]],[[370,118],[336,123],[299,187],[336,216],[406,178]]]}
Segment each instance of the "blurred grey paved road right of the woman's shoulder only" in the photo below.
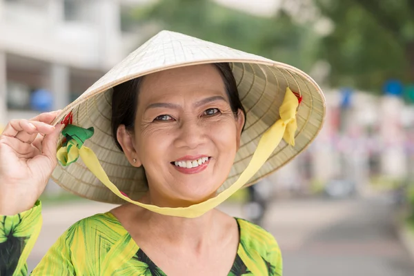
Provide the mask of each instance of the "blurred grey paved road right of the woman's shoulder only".
{"label": "blurred grey paved road right of the woman's shoulder only", "polygon": [[[272,208],[289,213],[282,209],[290,204]],[[269,213],[266,220],[279,240],[285,275],[414,275],[413,259],[397,239],[392,209],[383,200],[297,202],[290,209],[304,214],[279,221]]]}

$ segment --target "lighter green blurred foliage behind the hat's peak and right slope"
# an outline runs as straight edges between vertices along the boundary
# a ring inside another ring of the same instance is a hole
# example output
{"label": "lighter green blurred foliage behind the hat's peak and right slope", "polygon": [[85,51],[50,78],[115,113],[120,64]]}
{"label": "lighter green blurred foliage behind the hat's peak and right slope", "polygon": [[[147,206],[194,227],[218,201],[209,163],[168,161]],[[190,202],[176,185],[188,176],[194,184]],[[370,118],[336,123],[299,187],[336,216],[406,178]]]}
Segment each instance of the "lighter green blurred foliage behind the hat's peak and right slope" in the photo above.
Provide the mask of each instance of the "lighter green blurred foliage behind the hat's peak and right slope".
{"label": "lighter green blurred foliage behind the hat's peak and right slope", "polygon": [[310,70],[317,54],[318,38],[284,12],[267,18],[226,8],[212,0],[160,0],[147,8],[130,10],[125,17],[145,24],[155,23],[158,30],[182,32],[302,70]]}

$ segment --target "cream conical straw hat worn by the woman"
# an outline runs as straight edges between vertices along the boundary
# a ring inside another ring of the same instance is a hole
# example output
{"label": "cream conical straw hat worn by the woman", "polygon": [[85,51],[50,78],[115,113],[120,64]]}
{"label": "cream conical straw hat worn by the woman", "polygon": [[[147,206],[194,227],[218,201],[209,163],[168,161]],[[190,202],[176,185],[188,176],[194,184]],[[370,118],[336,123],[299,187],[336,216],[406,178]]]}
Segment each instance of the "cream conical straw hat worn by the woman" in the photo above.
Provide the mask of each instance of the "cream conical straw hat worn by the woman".
{"label": "cream conical straw hat worn by the woman", "polygon": [[[239,97],[246,109],[246,126],[240,148],[219,193],[238,179],[253,156],[262,134],[279,119],[279,107],[286,88],[302,96],[297,110],[295,146],[282,141],[246,186],[254,184],[302,152],[322,128],[326,112],[324,95],[317,83],[301,70],[284,63],[185,34],[161,31],[66,106],[54,123],[57,124],[72,112],[72,124],[95,128],[95,135],[86,140],[85,146],[95,152],[110,181],[130,199],[137,200],[146,193],[148,184],[144,170],[131,166],[124,153],[115,146],[110,124],[111,88],[160,70],[216,62],[230,63]],[[59,144],[62,139],[63,136]],[[125,202],[103,186],[81,159],[70,166],[57,165],[52,179],[81,197],[116,204]]]}

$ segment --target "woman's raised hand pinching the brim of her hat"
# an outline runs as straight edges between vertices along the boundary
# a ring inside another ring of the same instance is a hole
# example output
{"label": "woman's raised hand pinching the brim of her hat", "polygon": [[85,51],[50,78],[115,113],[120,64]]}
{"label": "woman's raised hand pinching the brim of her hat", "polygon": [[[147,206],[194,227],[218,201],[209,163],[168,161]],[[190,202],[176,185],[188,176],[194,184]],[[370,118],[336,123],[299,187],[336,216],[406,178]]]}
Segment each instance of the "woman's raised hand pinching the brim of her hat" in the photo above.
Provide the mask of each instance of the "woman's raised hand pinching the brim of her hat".
{"label": "woman's raised hand pinching the brim of her hat", "polygon": [[57,139],[63,126],[50,124],[59,111],[8,123],[0,135],[0,215],[34,206],[57,165]]}

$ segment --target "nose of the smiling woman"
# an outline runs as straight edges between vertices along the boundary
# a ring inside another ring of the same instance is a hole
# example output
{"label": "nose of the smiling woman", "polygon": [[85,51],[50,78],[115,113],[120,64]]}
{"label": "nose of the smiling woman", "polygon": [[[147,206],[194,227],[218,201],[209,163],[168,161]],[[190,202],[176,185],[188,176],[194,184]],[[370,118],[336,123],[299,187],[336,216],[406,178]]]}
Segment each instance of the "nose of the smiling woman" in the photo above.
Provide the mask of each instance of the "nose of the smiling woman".
{"label": "nose of the smiling woman", "polygon": [[179,124],[179,133],[175,139],[177,148],[195,149],[206,142],[206,126],[198,119],[187,119]]}

